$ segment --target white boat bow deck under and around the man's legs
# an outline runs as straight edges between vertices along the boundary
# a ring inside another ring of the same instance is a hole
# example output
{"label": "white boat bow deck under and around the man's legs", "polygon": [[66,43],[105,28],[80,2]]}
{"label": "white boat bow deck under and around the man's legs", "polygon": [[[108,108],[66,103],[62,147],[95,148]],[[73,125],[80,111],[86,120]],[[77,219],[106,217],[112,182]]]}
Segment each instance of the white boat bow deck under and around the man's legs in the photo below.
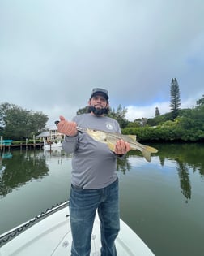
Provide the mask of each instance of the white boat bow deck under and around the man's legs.
{"label": "white boat bow deck under and around the man's legs", "polygon": [[[0,256],[68,256],[71,248],[68,206],[45,217],[0,248]],[[153,256],[144,242],[121,220],[116,241],[118,256]],[[100,221],[96,216],[91,256],[100,256]]]}

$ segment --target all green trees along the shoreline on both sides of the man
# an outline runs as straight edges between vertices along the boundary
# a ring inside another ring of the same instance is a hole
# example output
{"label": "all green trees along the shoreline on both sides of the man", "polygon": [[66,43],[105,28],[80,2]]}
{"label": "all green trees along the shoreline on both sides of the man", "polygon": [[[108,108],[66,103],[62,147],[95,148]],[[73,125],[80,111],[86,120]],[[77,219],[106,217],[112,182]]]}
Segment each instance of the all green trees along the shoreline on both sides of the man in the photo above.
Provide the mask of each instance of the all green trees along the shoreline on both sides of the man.
{"label": "all green trees along the shoreline on both sides of the man", "polygon": [[[130,122],[125,118],[127,109],[120,104],[116,109],[110,108],[108,116],[117,119],[122,133],[135,134],[138,141],[204,141],[204,95],[193,108],[181,109],[180,88],[172,78],[170,96],[170,111],[164,115],[156,107],[154,118]],[[76,115],[86,112],[87,106]],[[0,104],[0,136],[6,139],[32,139],[46,129],[48,120],[42,112],[27,111],[7,102]]]}

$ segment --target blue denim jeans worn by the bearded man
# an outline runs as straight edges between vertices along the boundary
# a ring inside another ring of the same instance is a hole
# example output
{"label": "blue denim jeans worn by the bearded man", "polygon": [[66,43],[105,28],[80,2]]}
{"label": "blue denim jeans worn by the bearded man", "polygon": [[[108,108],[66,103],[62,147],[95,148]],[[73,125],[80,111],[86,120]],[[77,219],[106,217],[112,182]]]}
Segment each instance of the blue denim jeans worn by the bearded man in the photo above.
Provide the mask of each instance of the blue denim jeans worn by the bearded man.
{"label": "blue denim jeans worn by the bearded man", "polygon": [[118,180],[104,189],[70,189],[71,256],[89,256],[91,232],[98,209],[101,256],[117,256],[115,239],[120,230]]}

